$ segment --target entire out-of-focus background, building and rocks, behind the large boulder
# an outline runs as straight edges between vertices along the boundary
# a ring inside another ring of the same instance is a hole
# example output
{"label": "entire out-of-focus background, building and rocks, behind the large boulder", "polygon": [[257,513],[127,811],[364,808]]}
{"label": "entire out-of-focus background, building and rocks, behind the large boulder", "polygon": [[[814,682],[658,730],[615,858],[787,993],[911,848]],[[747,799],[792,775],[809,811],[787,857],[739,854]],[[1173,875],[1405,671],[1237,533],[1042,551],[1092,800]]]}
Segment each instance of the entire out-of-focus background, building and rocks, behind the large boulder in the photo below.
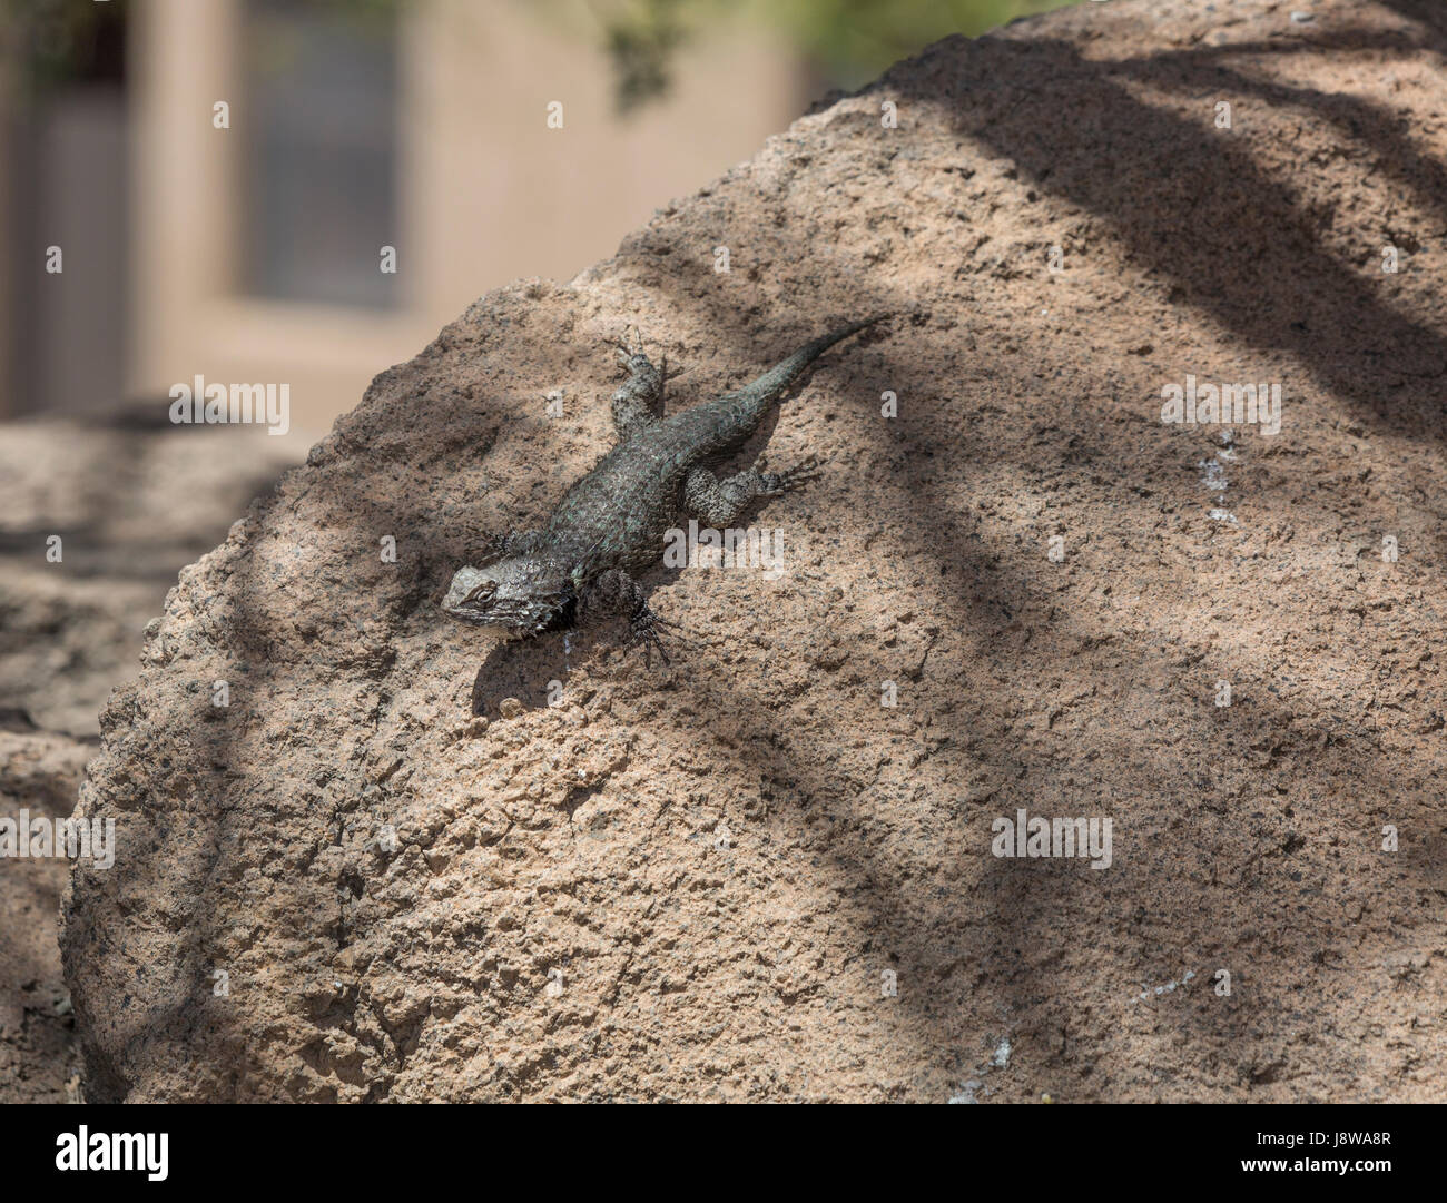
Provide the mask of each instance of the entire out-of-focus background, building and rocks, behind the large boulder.
{"label": "entire out-of-focus background, building and rocks, behind the large boulder", "polygon": [[[831,88],[1058,3],[0,0],[0,815],[71,813],[178,570],[378,372]],[[291,432],[171,424],[195,376],[285,383]],[[67,873],[0,872],[0,1102],[80,1097]]]}

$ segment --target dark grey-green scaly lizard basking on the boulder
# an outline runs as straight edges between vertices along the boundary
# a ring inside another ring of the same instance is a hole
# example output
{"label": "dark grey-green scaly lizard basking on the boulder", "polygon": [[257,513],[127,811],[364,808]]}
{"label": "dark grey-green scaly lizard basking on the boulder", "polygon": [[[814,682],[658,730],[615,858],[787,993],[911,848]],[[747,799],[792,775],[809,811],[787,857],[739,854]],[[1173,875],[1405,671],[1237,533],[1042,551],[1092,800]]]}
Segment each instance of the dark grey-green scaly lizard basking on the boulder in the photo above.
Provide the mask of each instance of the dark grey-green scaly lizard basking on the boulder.
{"label": "dark grey-green scaly lizard basking on the boulder", "polygon": [[683,513],[724,529],[755,499],[780,496],[818,474],[818,461],[784,473],[761,473],[755,464],[721,480],[709,466],[737,451],[820,354],[887,317],[823,334],[744,388],[670,416],[663,414],[667,360],[663,370],[655,367],[641,334],[632,347],[619,344],[628,379],[612,396],[618,444],[567,490],[541,528],[495,541],[480,567],[457,568],[443,612],[509,639],[627,612],[631,642],[657,648],[667,664],[658,629],[673,625],[648,606],[635,575],[660,562],[666,532]]}

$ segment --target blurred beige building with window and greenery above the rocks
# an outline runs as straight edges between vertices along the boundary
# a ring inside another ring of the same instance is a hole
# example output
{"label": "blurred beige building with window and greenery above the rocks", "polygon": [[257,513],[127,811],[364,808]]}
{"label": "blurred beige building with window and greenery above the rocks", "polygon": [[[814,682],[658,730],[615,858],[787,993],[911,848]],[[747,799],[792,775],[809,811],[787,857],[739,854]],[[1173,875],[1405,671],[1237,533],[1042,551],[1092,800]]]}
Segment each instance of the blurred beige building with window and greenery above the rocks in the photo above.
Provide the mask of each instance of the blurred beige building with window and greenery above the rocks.
{"label": "blurred beige building with window and greenery above the rocks", "polygon": [[488,289],[1061,3],[3,0],[0,418],[285,380],[304,453]]}

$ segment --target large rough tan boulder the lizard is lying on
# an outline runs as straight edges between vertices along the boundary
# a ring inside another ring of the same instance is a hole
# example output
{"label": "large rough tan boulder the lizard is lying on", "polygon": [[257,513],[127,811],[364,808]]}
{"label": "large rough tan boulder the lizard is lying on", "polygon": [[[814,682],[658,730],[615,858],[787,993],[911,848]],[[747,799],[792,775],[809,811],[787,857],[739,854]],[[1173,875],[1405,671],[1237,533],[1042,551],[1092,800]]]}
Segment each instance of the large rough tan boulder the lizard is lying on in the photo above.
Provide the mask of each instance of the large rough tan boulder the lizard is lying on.
{"label": "large rough tan boulder the lizard is lying on", "polygon": [[[1408,0],[946,40],[379,376],[106,711],[90,1097],[1441,1099],[1444,51]],[[673,668],[438,615],[609,445],[627,325],[679,405],[883,308],[768,441],[835,457],[755,518],[789,570],[651,581]],[[1281,432],[1162,424],[1187,374]],[[991,855],[1017,808],[1111,866]]]}

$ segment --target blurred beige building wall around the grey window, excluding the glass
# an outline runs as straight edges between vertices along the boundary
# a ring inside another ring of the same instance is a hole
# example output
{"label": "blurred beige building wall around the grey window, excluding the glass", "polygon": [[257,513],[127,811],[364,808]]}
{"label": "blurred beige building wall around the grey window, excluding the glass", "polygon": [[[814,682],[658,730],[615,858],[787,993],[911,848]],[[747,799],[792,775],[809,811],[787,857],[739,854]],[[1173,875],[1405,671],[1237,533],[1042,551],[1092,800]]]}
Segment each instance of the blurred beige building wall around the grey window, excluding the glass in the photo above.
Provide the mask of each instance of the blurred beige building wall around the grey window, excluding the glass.
{"label": "blurred beige building wall around the grey window, excluding the glass", "polygon": [[[401,311],[240,296],[233,289],[239,80],[236,0],[139,0],[132,29],[132,392],[289,383],[292,425],[324,432],[373,374],[410,359],[480,294],[569,279],[800,110],[802,72],[761,32],[715,32],[680,55],[674,91],[635,119],[587,4],[421,0],[405,7]],[[233,130],[211,127],[232,101]],[[548,101],[564,129],[546,124]],[[373,259],[375,262],[375,259]]]}

